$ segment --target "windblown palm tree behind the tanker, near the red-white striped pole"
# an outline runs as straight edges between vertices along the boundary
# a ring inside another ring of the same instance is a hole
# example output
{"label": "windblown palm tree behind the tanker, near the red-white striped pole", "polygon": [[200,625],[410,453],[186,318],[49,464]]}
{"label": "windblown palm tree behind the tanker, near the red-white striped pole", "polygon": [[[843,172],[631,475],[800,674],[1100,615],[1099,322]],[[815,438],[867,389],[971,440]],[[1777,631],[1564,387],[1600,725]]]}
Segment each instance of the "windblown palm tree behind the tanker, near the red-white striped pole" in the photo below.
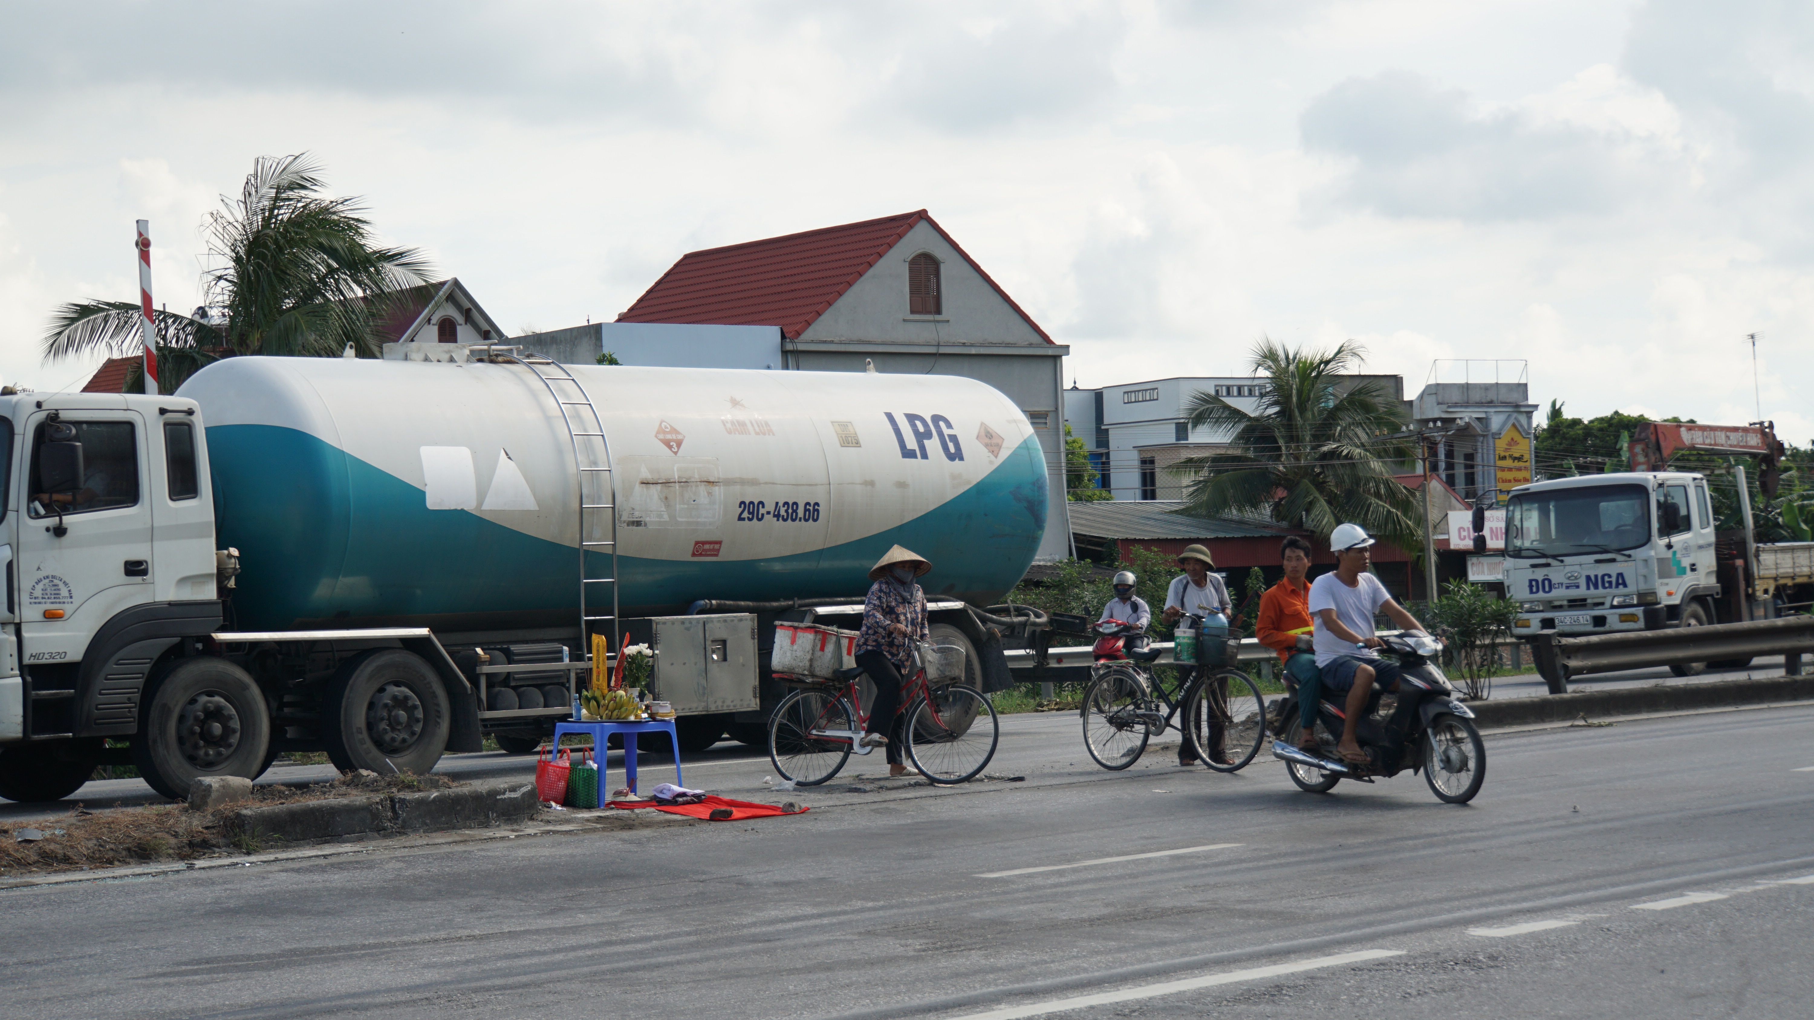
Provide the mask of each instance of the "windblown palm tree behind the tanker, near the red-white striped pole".
{"label": "windblown palm tree behind the tanker, near the red-white striped pole", "polygon": [[[374,322],[399,290],[428,281],[415,248],[381,248],[357,197],[325,197],[307,152],[259,156],[238,199],[221,196],[203,232],[210,268],[196,315],[152,315],[158,386],[174,393],[203,366],[236,355],[377,357]],[[140,350],[140,306],[73,301],[51,315],[44,359]],[[127,390],[141,390],[132,366]]]}

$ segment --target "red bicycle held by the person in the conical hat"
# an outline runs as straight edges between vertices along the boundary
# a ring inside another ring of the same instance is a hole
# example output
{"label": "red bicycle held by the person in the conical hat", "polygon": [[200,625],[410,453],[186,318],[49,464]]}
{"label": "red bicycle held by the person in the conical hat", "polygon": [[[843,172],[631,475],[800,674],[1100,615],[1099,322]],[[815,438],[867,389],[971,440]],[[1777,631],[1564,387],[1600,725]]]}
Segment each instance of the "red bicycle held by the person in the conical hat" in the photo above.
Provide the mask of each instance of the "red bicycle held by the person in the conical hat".
{"label": "red bicycle held by the person in the conical hat", "polygon": [[[949,786],[983,772],[996,755],[1001,723],[981,690],[958,683],[963,676],[963,649],[914,641],[911,676],[902,683],[907,761],[927,781]],[[831,679],[776,678],[796,685],[769,716],[769,761],[782,779],[795,786],[825,783],[856,746],[869,725],[858,681],[862,667],[840,669]]]}

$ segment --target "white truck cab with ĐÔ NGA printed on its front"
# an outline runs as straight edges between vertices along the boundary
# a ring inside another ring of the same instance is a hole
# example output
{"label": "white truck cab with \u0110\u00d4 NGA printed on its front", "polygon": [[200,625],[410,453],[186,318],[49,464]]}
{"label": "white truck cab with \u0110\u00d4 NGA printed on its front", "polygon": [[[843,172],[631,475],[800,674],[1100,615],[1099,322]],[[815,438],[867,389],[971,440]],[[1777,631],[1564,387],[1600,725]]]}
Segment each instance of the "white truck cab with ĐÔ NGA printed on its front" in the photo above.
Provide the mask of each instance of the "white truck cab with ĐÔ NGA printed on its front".
{"label": "white truck cab with \u0110\u00d4 NGA printed on its front", "polygon": [[1506,507],[1515,638],[1698,627],[1720,596],[1702,475],[1582,475],[1518,487]]}

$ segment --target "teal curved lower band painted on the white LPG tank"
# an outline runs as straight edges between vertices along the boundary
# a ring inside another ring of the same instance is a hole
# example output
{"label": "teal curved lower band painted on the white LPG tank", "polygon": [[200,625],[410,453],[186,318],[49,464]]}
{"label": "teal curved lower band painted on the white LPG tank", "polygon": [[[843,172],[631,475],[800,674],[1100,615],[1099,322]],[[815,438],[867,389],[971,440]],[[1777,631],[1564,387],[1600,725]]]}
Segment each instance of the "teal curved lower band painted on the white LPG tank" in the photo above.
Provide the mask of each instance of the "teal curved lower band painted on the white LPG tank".
{"label": "teal curved lower band painted on the white LPG tank", "polygon": [[[415,486],[303,431],[212,426],[207,440],[219,544],[238,547],[243,567],[232,600],[239,629],[472,616],[495,618],[483,629],[513,629],[564,625],[561,614],[577,611],[571,545],[432,511]],[[1032,563],[1047,496],[1039,442],[1027,438],[970,489],[854,542],[762,560],[620,556],[620,605],[631,616],[698,598],[858,594],[894,544],[934,563],[929,594],[992,600]],[[591,556],[591,576],[610,576],[610,558]]]}

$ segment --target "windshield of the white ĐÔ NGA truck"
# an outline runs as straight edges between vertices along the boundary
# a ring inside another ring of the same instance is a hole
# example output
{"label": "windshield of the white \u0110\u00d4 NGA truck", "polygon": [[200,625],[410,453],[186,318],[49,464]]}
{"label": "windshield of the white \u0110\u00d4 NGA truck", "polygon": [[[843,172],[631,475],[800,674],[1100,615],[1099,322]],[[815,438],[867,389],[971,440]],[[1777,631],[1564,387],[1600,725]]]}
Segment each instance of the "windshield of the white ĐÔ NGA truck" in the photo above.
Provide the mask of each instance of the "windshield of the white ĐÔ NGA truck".
{"label": "windshield of the white \u0110\u00d4 NGA truck", "polygon": [[1643,486],[1584,486],[1513,496],[1506,507],[1506,554],[1535,560],[1645,545],[1649,495]]}

